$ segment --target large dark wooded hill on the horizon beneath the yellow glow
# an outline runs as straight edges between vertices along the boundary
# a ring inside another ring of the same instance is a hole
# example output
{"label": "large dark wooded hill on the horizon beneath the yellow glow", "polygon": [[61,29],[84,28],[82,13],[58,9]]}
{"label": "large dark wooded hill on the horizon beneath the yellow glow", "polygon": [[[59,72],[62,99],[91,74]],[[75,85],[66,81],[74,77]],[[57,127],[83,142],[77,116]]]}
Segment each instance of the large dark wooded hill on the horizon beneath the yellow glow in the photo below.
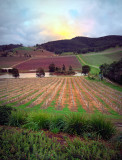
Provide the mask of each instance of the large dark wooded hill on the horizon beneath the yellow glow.
{"label": "large dark wooded hill on the horizon beneath the yellow glow", "polygon": [[87,52],[99,52],[105,49],[122,46],[122,36],[105,36],[100,38],[75,37],[70,40],[58,40],[42,45],[44,49],[61,54],[62,52],[74,52],[85,54]]}

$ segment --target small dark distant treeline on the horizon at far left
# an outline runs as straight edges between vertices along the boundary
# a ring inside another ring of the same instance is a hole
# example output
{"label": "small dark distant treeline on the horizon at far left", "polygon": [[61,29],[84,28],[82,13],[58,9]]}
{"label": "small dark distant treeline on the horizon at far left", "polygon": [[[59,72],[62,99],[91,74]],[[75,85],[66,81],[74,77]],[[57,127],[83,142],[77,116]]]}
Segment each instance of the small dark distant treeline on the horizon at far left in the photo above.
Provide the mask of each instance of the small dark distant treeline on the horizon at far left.
{"label": "small dark distant treeline on the horizon at far left", "polygon": [[0,45],[0,51],[12,50],[14,48],[22,47],[22,44],[9,44],[9,45]]}

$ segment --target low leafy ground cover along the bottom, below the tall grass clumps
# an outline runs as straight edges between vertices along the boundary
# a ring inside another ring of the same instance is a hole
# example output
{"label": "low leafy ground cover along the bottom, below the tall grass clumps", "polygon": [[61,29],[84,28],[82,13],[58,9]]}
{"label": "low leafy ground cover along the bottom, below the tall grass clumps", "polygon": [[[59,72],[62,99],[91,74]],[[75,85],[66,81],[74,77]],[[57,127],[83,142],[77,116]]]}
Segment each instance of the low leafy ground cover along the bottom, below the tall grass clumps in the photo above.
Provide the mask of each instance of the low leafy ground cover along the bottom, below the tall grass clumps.
{"label": "low leafy ground cover along the bottom, below the tall grass clumps", "polygon": [[[0,127],[0,159],[2,160],[120,160],[120,145],[66,138],[61,145],[56,138],[48,138],[43,131]],[[117,143],[116,143],[117,144]],[[111,147],[110,147],[111,146]]]}

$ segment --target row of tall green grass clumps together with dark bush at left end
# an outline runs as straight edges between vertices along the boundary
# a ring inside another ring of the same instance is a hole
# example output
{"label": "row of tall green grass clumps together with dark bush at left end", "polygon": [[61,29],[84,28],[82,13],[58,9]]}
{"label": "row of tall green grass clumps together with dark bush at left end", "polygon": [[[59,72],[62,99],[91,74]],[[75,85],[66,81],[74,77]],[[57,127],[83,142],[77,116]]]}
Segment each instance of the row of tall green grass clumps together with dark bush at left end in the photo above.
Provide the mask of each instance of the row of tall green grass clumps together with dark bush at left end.
{"label": "row of tall green grass clumps together with dark bush at left end", "polygon": [[[94,134],[102,139],[110,139],[116,132],[113,124],[102,115],[87,116],[78,113],[54,114],[46,112],[24,112],[14,110],[7,112],[8,107],[1,106],[1,117],[4,116],[3,124],[19,126],[32,130],[47,129],[52,132],[65,132],[73,135],[83,136]],[[5,117],[6,115],[6,117]],[[7,119],[7,120],[6,120]],[[1,120],[2,121],[2,120]]]}

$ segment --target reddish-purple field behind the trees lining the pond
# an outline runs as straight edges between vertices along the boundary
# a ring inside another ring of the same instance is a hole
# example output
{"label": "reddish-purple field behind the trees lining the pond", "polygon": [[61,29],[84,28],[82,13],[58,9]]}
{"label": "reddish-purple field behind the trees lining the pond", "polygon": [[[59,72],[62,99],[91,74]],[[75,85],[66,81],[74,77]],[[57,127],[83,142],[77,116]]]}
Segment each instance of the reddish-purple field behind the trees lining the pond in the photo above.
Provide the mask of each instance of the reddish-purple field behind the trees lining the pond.
{"label": "reddish-purple field behind the trees lining the pond", "polygon": [[75,56],[66,56],[66,57],[50,57],[50,58],[33,58],[27,62],[16,65],[15,67],[19,70],[36,70],[39,67],[48,70],[49,65],[54,63],[57,67],[62,67],[64,64],[68,69],[71,65],[74,70],[81,69],[81,64],[78,62]]}

